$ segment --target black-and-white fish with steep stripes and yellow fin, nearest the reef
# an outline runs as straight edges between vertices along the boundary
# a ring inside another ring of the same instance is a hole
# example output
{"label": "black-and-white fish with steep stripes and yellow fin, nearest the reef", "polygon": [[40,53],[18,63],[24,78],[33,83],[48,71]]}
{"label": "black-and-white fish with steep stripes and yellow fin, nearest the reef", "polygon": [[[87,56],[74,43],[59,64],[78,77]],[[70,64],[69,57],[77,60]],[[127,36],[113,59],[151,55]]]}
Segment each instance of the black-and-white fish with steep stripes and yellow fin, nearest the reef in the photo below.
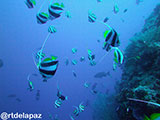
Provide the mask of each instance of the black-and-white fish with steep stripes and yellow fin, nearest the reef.
{"label": "black-and-white fish with steep stripes and yellow fin, nearest the reef", "polygon": [[120,45],[119,36],[114,29],[106,30],[104,33],[105,43],[103,49],[109,51],[112,47],[118,47]]}

